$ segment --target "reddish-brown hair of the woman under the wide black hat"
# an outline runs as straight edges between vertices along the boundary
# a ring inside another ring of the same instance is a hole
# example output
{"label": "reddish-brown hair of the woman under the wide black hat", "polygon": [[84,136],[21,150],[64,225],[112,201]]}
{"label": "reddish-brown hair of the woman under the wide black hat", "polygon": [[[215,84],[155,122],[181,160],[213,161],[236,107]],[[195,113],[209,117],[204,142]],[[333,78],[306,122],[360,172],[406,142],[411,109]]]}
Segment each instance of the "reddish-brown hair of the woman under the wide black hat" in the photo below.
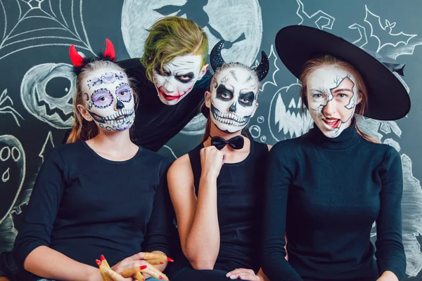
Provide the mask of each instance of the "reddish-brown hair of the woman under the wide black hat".
{"label": "reddish-brown hair of the woman under the wide black hat", "polygon": [[[300,75],[300,81],[302,81],[302,89],[300,90],[300,98],[302,99],[302,112],[305,110],[304,105],[307,107],[307,79],[309,78],[309,75],[317,68],[325,65],[341,67],[344,70],[350,72],[354,78],[356,78],[357,90],[359,91],[362,100],[356,106],[355,113],[358,115],[364,115],[368,105],[368,91],[366,90],[364,79],[362,78],[361,74],[359,74],[357,69],[353,67],[353,65],[346,63],[343,60],[339,60],[332,55],[322,55],[318,58],[313,58],[312,60],[308,60],[307,63],[305,63],[303,66],[302,74]],[[364,138],[366,141],[370,141],[371,143],[379,143],[379,141],[377,141],[375,138],[362,132],[356,123],[354,126],[356,127],[357,133],[359,133],[359,135],[362,136],[362,138]]]}

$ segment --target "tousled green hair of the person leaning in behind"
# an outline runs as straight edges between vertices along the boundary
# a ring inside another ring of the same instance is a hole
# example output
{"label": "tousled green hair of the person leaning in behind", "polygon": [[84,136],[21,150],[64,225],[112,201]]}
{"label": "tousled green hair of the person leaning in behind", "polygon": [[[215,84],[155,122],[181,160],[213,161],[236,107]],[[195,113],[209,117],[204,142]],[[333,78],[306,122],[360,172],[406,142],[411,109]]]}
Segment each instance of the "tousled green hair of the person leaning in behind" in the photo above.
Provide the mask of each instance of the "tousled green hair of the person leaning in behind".
{"label": "tousled green hair of the person leaning in behind", "polygon": [[160,70],[179,55],[202,55],[201,67],[208,56],[208,37],[192,20],[177,16],[165,17],[153,24],[143,46],[140,59],[146,77],[153,81],[153,70]]}

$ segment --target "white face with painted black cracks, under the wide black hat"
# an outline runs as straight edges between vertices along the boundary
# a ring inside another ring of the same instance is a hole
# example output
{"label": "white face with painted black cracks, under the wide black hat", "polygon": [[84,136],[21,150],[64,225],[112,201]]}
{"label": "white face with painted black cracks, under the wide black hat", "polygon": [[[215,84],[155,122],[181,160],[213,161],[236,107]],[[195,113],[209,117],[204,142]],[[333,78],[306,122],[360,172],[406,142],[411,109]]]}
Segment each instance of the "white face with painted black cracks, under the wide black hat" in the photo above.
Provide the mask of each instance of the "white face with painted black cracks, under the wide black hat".
{"label": "white face with painted black cracks, under the wide black hat", "polygon": [[309,74],[307,103],[316,126],[328,138],[335,138],[350,126],[361,101],[355,77],[333,65]]}

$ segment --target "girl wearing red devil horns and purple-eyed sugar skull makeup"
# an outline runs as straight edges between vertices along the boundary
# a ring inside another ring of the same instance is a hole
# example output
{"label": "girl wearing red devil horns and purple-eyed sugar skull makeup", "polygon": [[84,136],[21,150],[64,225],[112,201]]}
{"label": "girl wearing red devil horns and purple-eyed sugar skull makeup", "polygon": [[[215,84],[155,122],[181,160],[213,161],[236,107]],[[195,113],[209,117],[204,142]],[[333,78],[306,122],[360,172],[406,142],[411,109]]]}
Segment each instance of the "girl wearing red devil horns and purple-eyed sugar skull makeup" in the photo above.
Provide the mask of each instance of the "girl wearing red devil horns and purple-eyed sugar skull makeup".
{"label": "girl wearing red devil horns and purple-eyed sugar skull makeup", "polygon": [[146,252],[169,254],[170,162],[129,137],[136,95],[113,63],[111,42],[98,58],[82,58],[71,46],[70,58],[77,74],[75,125],[68,144],[53,148],[41,166],[15,262],[30,275],[25,280],[102,280],[96,259],[104,254],[108,272],[115,272],[110,280],[133,280],[118,273],[140,267],[166,279],[160,270],[167,261],[155,268]]}

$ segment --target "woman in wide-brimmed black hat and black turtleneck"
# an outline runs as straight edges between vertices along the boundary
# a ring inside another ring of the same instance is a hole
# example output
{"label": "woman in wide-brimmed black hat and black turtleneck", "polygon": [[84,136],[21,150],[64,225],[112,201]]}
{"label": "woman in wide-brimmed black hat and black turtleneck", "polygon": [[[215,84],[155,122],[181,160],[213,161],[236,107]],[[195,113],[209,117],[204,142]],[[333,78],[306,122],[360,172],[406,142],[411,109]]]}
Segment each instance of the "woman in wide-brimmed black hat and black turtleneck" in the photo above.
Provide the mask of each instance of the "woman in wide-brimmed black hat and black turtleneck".
{"label": "woman in wide-brimmed black hat and black turtleneck", "polygon": [[280,30],[276,49],[302,81],[314,128],[269,153],[264,273],[270,280],[401,279],[401,159],[395,148],[360,131],[354,114],[406,116],[409,95],[392,73],[402,74],[403,65],[384,65],[340,37],[305,26]]}

